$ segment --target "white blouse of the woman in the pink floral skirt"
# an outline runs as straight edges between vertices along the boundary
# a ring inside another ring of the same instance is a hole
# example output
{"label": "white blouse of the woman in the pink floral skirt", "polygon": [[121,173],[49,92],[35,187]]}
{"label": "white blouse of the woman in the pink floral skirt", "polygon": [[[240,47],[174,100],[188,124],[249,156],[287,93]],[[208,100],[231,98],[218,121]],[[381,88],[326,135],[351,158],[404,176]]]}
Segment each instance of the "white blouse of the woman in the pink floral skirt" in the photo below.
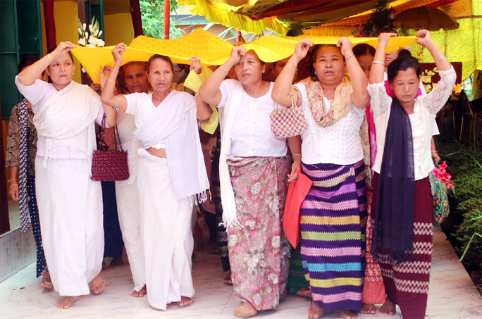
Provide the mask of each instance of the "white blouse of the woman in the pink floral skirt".
{"label": "white blouse of the woman in the pink floral skirt", "polygon": [[[218,108],[226,106],[228,93],[224,82],[221,83],[221,102]],[[273,99],[271,91],[274,83],[271,82],[268,92],[261,97],[251,97],[245,90],[242,91],[239,111],[236,114],[231,130],[231,156],[249,157],[285,156],[288,147],[286,139],[278,138],[271,132],[271,120],[269,114],[273,112]],[[280,106],[279,108],[283,108]]]}

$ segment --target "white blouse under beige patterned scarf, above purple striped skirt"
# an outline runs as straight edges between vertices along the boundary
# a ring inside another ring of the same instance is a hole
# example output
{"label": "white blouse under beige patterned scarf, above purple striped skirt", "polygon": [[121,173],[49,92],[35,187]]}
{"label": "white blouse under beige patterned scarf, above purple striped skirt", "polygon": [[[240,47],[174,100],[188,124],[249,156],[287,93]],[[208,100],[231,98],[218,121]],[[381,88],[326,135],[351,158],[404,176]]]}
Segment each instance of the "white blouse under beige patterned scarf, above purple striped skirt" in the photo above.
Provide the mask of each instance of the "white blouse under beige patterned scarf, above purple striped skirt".
{"label": "white blouse under beige patterned scarf, above purple striped skirt", "polygon": [[[308,128],[303,134],[302,161],[305,164],[330,163],[350,165],[361,161],[363,147],[360,139],[360,126],[365,115],[364,108],[352,105],[345,117],[328,127],[319,126],[311,115],[307,89],[303,83],[295,85],[302,94],[302,111]],[[328,110],[331,102],[325,98]]]}

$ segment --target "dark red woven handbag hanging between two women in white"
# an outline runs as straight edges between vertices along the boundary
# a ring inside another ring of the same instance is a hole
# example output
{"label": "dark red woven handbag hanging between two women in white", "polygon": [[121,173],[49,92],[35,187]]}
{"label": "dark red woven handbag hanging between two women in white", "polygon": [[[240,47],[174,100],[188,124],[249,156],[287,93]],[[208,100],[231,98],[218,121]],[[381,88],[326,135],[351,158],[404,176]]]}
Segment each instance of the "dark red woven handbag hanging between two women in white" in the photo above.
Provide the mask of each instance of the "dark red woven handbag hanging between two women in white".
{"label": "dark red woven handbag hanging between two women in white", "polygon": [[[92,177],[90,177],[92,180],[113,182],[127,180],[129,178],[128,154],[127,151],[122,149],[117,125],[115,125],[113,129],[113,139],[116,143],[116,149],[108,151],[109,147],[106,145],[106,115],[104,114],[101,123],[99,144],[92,158]],[[118,148],[120,150],[118,150]]]}

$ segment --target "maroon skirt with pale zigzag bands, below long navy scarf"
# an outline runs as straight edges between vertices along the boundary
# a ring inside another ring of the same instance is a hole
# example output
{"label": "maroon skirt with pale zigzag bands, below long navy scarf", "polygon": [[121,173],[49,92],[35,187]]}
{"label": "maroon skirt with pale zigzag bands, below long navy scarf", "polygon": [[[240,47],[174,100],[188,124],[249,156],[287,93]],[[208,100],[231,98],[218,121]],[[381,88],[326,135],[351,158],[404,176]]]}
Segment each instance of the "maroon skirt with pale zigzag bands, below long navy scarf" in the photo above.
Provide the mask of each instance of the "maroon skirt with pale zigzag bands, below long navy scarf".
{"label": "maroon skirt with pale zigzag bands, below long navy scarf", "polygon": [[[373,211],[380,175],[373,176]],[[376,223],[376,219],[374,220]],[[425,318],[433,251],[433,196],[428,177],[415,181],[414,260],[390,262],[378,254],[388,299],[400,306],[403,318]]]}

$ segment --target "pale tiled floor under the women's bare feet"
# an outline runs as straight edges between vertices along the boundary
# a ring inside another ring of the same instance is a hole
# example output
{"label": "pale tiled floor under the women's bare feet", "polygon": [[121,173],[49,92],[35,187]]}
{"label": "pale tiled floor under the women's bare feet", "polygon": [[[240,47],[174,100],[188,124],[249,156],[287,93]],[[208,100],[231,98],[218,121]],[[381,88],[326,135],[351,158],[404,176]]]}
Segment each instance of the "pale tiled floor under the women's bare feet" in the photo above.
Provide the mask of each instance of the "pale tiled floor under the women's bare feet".
{"label": "pale tiled floor under the women's bare feet", "polygon": [[[433,268],[426,318],[481,318],[482,298],[459,263],[443,232],[435,232]],[[38,287],[35,265],[29,265],[0,283],[0,318],[233,318],[237,302],[232,287],[223,284],[224,274],[218,256],[197,254],[192,270],[197,290],[194,303],[186,308],[171,306],[156,311],[146,298],[130,296],[132,278],[128,265],[102,272],[106,279],[104,292],[83,296],[70,309],[57,309],[56,292]],[[307,318],[309,300],[287,296],[276,311],[264,311],[257,318]],[[323,318],[339,318],[329,313]],[[359,318],[399,319],[401,315],[363,315]],[[409,318],[406,318],[409,319]]]}

